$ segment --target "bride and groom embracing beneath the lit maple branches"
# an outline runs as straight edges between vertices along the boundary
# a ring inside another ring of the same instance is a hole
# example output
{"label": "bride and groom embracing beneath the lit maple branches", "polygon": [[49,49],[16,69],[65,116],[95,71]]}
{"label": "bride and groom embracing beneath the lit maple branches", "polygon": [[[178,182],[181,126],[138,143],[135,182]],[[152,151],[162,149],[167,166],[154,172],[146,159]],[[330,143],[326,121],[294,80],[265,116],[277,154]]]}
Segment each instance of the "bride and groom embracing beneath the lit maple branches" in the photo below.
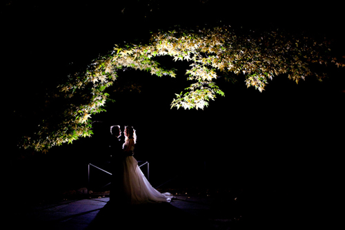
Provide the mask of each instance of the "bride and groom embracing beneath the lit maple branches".
{"label": "bride and groom embracing beneath the lit maple branches", "polygon": [[112,153],[113,181],[110,200],[119,204],[144,204],[148,202],[170,202],[171,193],[160,193],[153,188],[135,160],[134,149],[137,135],[132,126],[126,126],[121,135],[120,126],[112,126],[115,153]]}

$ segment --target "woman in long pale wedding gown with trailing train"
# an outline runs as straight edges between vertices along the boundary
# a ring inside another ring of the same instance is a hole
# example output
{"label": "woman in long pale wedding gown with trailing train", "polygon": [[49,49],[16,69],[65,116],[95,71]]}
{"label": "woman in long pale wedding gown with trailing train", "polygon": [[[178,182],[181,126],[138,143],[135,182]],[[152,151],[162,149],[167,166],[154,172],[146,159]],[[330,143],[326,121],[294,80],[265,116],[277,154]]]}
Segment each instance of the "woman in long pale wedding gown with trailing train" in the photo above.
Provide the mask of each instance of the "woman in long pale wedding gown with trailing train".
{"label": "woman in long pale wedding gown with trailing train", "polygon": [[131,126],[125,128],[125,142],[123,145],[124,157],[123,180],[121,180],[122,194],[127,204],[143,204],[147,202],[170,202],[173,198],[171,193],[159,193],[146,179],[144,173],[138,166],[137,160],[133,157],[137,137]]}

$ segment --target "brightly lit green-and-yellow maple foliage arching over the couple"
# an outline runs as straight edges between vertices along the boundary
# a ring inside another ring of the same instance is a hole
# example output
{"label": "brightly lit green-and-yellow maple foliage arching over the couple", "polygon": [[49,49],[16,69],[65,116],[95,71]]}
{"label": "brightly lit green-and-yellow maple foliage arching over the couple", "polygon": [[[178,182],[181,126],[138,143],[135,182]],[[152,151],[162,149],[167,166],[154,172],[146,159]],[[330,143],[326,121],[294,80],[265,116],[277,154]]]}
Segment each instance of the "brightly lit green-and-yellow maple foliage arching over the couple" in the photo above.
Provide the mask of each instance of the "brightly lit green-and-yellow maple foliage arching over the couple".
{"label": "brightly lit green-and-yellow maple foliage arching over the couple", "polygon": [[320,72],[319,66],[345,66],[331,56],[330,45],[326,39],[316,40],[307,35],[239,32],[230,26],[158,31],[148,44],[115,45],[107,55],[94,59],[85,71],[69,75],[54,95],[63,99],[64,105],[57,122],[43,120],[39,131],[32,137],[23,137],[19,146],[46,152],[52,146],[92,135],[91,115],[105,111],[103,106],[111,99],[104,90],[112,86],[120,70],[132,68],[158,77],[175,77],[175,69],[167,70],[155,61],[158,56],[191,62],[186,74],[188,80],[195,82],[186,88],[186,93],[176,94],[171,108],[204,109],[217,94],[224,96],[215,84],[219,75],[229,82],[244,75],[246,86],[254,86],[260,92],[265,90],[268,79],[283,74],[297,84],[311,75],[321,82],[326,73]]}

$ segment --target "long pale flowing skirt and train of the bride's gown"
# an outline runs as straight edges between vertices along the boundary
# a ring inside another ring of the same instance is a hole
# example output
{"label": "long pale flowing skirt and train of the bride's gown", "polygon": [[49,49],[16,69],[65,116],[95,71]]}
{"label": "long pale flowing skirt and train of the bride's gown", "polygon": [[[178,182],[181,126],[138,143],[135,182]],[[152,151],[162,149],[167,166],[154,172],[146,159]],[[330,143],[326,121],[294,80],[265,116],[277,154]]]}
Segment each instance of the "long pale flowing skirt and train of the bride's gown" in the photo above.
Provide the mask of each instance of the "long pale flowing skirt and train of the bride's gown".
{"label": "long pale flowing skirt and train of the bride's gown", "polygon": [[124,180],[123,194],[128,204],[144,204],[148,202],[170,202],[171,193],[160,193],[153,188],[138,166],[135,157],[129,156],[123,162]]}

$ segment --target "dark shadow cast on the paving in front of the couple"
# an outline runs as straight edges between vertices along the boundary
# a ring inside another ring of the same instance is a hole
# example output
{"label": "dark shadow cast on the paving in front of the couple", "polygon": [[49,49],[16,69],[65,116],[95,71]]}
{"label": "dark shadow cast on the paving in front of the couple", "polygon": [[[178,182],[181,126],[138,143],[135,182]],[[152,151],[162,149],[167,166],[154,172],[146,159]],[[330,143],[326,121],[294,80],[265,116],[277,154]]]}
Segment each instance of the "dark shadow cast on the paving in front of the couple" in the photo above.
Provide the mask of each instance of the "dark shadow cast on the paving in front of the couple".
{"label": "dark shadow cast on the paving in front of the couple", "polygon": [[126,229],[212,229],[206,220],[166,203],[117,207],[108,202],[87,229],[111,226]]}

